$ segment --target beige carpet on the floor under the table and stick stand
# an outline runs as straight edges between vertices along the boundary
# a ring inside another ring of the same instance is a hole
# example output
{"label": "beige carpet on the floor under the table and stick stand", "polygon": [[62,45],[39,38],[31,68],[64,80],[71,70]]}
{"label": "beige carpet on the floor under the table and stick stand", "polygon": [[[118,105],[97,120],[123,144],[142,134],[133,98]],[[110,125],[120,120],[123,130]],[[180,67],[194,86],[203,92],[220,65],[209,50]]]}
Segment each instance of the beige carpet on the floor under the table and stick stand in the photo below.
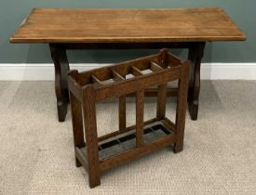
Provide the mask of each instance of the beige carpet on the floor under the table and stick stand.
{"label": "beige carpet on the floor under the table and stick stand", "polygon": [[[169,100],[172,119],[174,106]],[[158,150],[105,172],[95,189],[74,166],[70,110],[58,123],[55,107],[53,82],[0,82],[0,194],[256,194],[256,82],[203,81],[184,150]],[[145,108],[154,117],[154,99]],[[97,109],[99,135],[116,130],[115,102]],[[129,123],[134,113],[129,100]]]}

